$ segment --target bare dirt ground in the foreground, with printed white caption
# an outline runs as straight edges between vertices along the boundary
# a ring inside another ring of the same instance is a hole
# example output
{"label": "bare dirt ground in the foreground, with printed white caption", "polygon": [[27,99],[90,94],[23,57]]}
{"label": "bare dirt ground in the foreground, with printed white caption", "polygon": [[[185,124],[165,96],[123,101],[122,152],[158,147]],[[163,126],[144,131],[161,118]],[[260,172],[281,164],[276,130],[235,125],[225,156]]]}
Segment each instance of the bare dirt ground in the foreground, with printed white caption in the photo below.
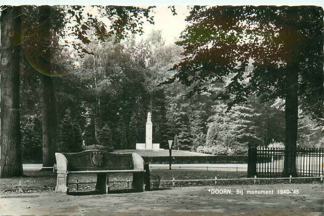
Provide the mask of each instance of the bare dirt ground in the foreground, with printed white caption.
{"label": "bare dirt ground in the foreground, with printed white caption", "polygon": [[[221,191],[231,194],[220,194]],[[237,194],[243,190],[243,195]],[[289,194],[277,190],[289,189]],[[298,189],[298,194],[297,194]],[[208,191],[210,190],[210,192]],[[273,194],[247,194],[270,191]],[[1,215],[323,215],[323,183],[214,185],[110,194],[2,192]],[[213,193],[214,192],[214,193]],[[295,192],[295,193],[294,193]],[[217,194],[216,194],[217,193]]]}

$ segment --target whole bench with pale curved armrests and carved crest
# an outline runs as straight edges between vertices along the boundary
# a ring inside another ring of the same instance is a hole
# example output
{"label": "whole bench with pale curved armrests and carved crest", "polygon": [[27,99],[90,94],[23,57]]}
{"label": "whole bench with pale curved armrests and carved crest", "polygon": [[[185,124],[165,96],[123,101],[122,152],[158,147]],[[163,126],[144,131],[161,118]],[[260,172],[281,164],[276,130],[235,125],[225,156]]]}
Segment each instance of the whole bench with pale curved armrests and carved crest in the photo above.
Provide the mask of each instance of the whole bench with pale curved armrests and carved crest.
{"label": "whole bench with pale curved armrests and carved crest", "polygon": [[110,173],[133,173],[132,189],[144,191],[144,160],[136,154],[115,154],[101,150],[55,153],[57,181],[55,191],[68,192],[69,174],[97,174],[96,190],[107,193]]}

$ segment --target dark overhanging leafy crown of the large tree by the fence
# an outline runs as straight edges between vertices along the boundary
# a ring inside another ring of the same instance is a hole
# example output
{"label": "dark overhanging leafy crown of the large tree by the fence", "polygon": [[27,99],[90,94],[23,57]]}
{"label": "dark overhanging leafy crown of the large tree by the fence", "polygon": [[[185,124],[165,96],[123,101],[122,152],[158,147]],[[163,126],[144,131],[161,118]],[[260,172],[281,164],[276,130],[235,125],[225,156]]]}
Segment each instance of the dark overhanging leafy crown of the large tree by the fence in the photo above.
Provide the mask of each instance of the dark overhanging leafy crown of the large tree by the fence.
{"label": "dark overhanging leafy crown of the large tree by the fence", "polygon": [[323,103],[316,101],[324,97],[321,7],[194,6],[186,20],[190,24],[177,42],[184,58],[174,67],[173,81],[197,93],[210,91],[207,83],[225,84],[214,93],[230,106],[253,92],[264,102],[285,98],[286,71],[297,63],[301,105],[322,114]]}

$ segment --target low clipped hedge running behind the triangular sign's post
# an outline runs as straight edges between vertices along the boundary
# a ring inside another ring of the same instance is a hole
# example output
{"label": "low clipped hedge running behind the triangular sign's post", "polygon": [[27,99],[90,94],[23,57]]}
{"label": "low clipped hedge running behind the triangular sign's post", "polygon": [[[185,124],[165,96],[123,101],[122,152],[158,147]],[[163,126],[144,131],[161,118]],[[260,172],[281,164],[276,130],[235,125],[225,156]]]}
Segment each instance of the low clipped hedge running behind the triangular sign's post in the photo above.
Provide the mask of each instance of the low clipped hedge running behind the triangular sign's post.
{"label": "low clipped hedge running behind the triangular sign's post", "polygon": [[[142,156],[145,163],[168,164],[169,156]],[[173,164],[247,163],[247,155],[173,156]]]}

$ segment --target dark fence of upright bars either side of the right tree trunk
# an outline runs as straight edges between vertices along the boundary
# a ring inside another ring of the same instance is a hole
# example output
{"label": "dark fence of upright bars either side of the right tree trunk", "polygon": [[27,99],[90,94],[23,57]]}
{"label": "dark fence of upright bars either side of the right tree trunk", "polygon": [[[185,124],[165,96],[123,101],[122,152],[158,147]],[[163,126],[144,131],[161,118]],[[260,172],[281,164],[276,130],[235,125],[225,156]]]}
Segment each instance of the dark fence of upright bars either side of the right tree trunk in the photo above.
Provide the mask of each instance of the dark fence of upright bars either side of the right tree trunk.
{"label": "dark fence of upright bars either side of the right tree trunk", "polygon": [[[256,175],[264,177],[280,177],[284,171],[287,156],[284,148],[257,147]],[[252,151],[253,153],[253,148]],[[297,148],[288,152],[288,158],[295,160],[297,176],[320,176],[323,174],[324,148]]]}

